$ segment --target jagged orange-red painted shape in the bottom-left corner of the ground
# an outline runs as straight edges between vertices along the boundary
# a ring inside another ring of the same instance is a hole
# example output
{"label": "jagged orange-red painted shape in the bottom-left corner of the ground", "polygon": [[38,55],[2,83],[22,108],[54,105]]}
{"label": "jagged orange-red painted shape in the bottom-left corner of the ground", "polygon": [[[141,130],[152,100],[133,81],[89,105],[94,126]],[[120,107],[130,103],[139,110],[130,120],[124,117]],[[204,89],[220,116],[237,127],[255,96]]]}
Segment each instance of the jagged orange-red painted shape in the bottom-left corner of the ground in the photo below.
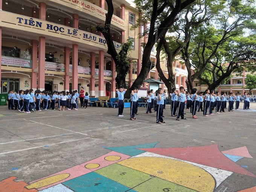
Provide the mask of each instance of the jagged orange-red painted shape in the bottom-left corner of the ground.
{"label": "jagged orange-red painted shape in the bottom-left corner of the ground", "polygon": [[37,189],[25,188],[28,184],[24,181],[14,181],[17,177],[9,177],[0,181],[0,192],[37,192]]}

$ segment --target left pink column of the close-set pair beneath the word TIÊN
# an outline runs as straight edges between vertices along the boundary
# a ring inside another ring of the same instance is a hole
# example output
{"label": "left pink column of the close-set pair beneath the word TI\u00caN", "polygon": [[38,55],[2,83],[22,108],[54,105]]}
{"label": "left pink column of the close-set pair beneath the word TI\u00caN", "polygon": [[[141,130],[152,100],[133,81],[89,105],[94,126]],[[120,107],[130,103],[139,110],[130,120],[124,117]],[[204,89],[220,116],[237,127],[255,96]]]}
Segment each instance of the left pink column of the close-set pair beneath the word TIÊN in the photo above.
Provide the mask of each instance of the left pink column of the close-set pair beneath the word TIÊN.
{"label": "left pink column of the close-set pair beneath the word TI\u00caN", "polygon": [[30,87],[35,91],[37,90],[37,71],[38,71],[37,70],[37,40],[32,40],[31,59],[32,59],[32,72],[31,72],[31,79],[30,79]]}

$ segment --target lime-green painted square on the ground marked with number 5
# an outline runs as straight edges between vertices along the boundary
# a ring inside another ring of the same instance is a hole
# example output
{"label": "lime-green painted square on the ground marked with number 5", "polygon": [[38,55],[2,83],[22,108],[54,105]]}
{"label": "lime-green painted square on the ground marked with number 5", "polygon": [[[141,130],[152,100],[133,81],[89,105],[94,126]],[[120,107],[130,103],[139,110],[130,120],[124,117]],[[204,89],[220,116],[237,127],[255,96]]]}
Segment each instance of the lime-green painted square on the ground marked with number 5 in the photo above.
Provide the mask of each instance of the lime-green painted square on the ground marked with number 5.
{"label": "lime-green painted square on the ground marked with number 5", "polygon": [[104,177],[107,177],[111,180],[114,180],[122,185],[125,185],[129,188],[133,188],[140,183],[143,183],[146,180],[152,178],[152,176],[148,174],[119,164],[112,164],[105,168],[98,169],[94,172],[103,175]]}

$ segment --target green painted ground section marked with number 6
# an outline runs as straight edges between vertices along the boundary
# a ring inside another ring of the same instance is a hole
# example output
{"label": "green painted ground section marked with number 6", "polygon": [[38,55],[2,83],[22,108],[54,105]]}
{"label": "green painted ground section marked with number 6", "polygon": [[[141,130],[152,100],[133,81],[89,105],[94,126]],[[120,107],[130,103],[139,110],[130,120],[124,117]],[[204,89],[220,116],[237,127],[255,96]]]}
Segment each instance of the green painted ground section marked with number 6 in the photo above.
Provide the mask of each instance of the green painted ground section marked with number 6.
{"label": "green painted ground section marked with number 6", "polygon": [[184,186],[180,186],[178,184],[160,179],[158,177],[154,177],[149,181],[146,181],[145,183],[140,184],[139,186],[136,186],[133,188],[137,192],[163,192],[163,191],[169,191],[169,192],[196,192],[193,189],[189,189]]}

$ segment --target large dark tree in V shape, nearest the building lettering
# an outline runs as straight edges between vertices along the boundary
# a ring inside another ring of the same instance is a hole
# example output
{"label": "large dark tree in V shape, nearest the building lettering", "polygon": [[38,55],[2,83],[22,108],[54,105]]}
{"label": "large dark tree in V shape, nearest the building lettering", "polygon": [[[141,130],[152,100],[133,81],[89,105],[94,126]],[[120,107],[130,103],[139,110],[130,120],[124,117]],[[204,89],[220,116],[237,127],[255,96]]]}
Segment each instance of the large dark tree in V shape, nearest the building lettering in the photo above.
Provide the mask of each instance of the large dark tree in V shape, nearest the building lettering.
{"label": "large dark tree in V shape, nearest the building lettering", "polygon": [[[175,2],[171,0],[134,1],[136,3],[136,8],[139,11],[145,11],[145,14],[142,15],[142,18],[137,20],[136,27],[140,26],[141,24],[145,24],[148,21],[150,22],[150,27],[147,30],[147,33],[144,34],[148,36],[148,42],[145,44],[143,50],[142,69],[137,79],[133,83],[134,87],[140,88],[149,73],[151,67],[150,54],[155,41],[166,34],[166,31],[175,22],[175,19],[180,11],[194,1],[195,0],[176,0]],[[117,53],[110,33],[111,18],[114,11],[113,2],[112,0],[106,0],[106,2],[108,5],[108,13],[106,14],[105,24],[99,24],[96,28],[104,35],[108,46],[107,52],[112,56],[116,64],[117,85],[123,85],[123,87],[126,87],[125,76],[129,70],[129,63],[126,61],[126,56],[130,48],[129,42],[127,44],[124,43],[120,52]]]}

